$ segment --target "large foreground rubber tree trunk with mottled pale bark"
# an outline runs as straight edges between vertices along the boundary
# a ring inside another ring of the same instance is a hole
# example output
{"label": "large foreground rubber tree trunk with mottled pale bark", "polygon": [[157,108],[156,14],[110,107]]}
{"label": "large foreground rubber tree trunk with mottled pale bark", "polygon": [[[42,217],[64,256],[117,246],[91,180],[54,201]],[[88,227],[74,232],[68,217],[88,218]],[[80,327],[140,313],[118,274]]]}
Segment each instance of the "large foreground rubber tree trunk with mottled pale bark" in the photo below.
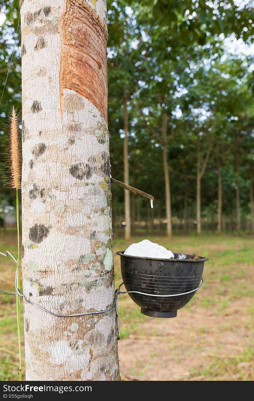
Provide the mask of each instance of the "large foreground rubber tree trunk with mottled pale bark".
{"label": "large foreground rubber tree trunk with mottled pale bark", "polygon": [[[24,0],[22,271],[57,314],[114,300],[107,14],[102,0]],[[118,380],[114,309],[54,317],[24,302],[26,380]]]}

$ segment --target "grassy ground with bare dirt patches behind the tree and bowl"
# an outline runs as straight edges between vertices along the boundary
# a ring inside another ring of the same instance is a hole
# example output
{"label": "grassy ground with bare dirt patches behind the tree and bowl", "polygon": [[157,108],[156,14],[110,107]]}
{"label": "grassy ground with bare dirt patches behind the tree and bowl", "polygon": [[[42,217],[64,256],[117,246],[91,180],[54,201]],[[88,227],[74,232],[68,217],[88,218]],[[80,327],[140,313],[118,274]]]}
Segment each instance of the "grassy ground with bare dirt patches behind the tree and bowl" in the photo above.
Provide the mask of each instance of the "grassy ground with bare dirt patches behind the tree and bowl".
{"label": "grassy ground with bare dirt patches behind the tree and bowl", "polygon": [[[114,239],[115,287],[122,282],[116,251],[142,239]],[[209,262],[203,287],[177,319],[147,318],[128,295],[118,297],[122,379],[154,380],[156,373],[156,380],[253,380],[254,238],[206,233],[203,237],[176,236],[170,241],[159,236],[148,239],[172,251],[208,257]],[[0,251],[7,249],[17,254],[15,231],[0,232]],[[12,259],[0,259],[0,288],[13,290],[15,269]],[[18,365],[15,297],[0,296],[0,332],[0,360]],[[21,344],[24,372],[23,335]],[[128,347],[134,347],[136,353],[130,360],[132,348]],[[18,380],[18,369],[0,365],[0,380]]]}

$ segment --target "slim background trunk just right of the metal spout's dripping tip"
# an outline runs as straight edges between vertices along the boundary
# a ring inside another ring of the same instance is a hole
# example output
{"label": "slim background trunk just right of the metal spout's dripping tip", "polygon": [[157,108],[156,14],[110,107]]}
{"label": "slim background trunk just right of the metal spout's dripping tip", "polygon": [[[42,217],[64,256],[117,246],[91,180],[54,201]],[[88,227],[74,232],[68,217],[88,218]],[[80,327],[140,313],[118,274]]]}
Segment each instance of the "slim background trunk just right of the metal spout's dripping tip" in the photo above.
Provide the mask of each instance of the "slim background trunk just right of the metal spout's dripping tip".
{"label": "slim background trunk just right of the metal spout's dripping tip", "polygon": [[168,124],[168,115],[164,113],[162,116],[162,144],[163,144],[163,170],[164,170],[164,180],[165,180],[167,237],[172,237],[170,177],[169,177],[169,164],[167,160],[167,124]]}

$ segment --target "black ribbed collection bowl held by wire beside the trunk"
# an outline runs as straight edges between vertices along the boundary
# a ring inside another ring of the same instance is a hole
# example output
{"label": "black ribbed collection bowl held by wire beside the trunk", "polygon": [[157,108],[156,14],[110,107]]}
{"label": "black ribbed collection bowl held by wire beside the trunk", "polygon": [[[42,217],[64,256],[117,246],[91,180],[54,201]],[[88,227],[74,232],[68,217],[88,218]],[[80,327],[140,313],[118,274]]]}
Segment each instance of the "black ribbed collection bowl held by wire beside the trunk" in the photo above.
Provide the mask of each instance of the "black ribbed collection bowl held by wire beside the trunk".
{"label": "black ribbed collection bowl held by wire beside the trunk", "polygon": [[[177,310],[183,308],[194,296],[189,294],[160,297],[160,295],[181,294],[195,290],[201,282],[205,261],[208,259],[193,255],[174,253],[174,259],[156,259],[124,255],[121,272],[127,291],[138,291],[158,297],[131,293],[130,298],[141,308],[141,313],[157,318],[174,318]],[[182,259],[184,257],[184,259]]]}

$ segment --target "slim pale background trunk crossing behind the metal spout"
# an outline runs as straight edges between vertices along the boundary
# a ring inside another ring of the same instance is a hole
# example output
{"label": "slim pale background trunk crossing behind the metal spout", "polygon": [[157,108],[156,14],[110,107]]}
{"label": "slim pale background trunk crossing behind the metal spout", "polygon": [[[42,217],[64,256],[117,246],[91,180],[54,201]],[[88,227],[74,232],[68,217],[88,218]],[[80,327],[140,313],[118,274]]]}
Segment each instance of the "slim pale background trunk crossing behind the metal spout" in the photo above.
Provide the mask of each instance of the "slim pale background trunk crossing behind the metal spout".
{"label": "slim pale background trunk crossing behind the metal spout", "polygon": [[[124,93],[124,182],[129,185],[129,160],[128,160],[128,109],[127,109],[127,95]],[[130,191],[124,190],[124,237],[130,239]]]}

